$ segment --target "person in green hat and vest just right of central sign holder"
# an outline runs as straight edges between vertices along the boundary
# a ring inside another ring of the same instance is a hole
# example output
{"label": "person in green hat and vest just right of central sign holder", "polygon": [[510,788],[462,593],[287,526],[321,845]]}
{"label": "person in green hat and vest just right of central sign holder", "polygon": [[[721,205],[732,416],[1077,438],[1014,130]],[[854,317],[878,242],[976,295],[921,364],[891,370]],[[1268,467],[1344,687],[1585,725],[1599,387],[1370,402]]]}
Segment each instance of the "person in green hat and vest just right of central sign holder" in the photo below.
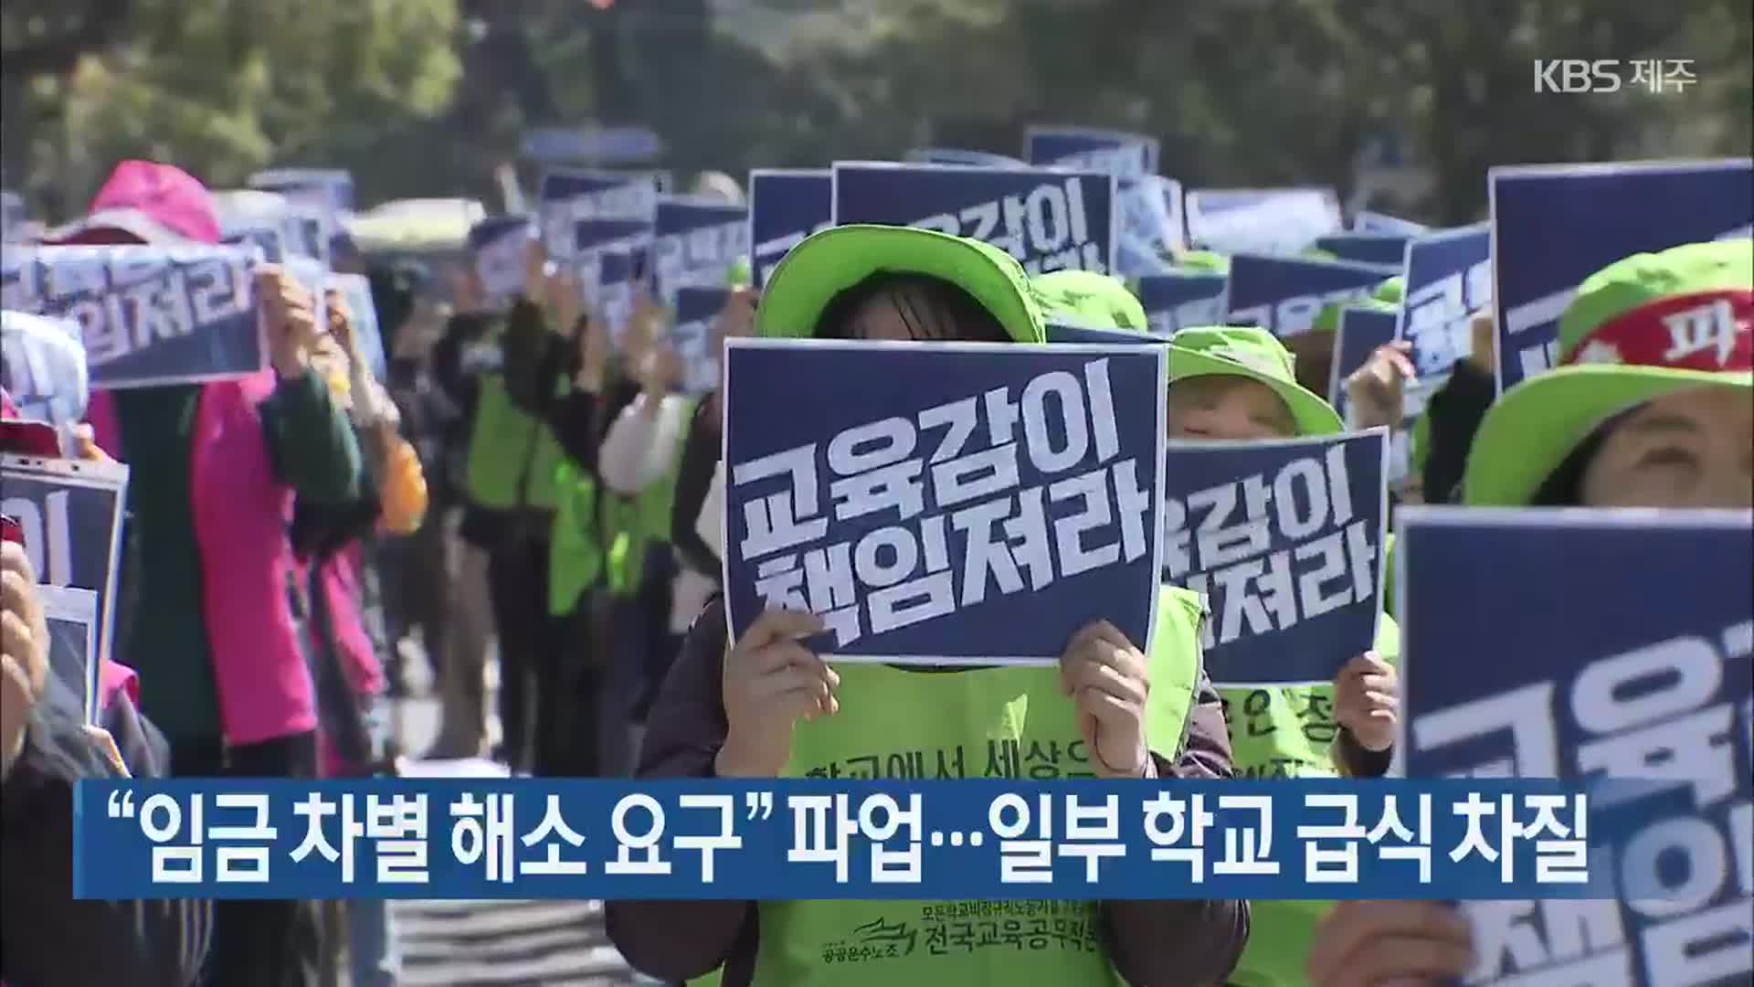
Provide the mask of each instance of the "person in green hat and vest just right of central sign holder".
{"label": "person in green hat and vest just right of central sign holder", "polygon": [[[1170,337],[1168,429],[1173,441],[1254,443],[1344,432],[1340,414],[1298,385],[1293,355],[1263,328],[1184,328]],[[1177,450],[1170,448],[1170,469]],[[1359,499],[1380,497],[1359,490]],[[1223,688],[1240,774],[1259,778],[1380,776],[1396,725],[1393,620],[1377,652],[1344,662],[1331,685]],[[1335,655],[1340,664],[1344,655]],[[1330,666],[1331,667],[1331,666]],[[1298,983],[1326,903],[1256,901],[1249,945],[1230,982]]]}

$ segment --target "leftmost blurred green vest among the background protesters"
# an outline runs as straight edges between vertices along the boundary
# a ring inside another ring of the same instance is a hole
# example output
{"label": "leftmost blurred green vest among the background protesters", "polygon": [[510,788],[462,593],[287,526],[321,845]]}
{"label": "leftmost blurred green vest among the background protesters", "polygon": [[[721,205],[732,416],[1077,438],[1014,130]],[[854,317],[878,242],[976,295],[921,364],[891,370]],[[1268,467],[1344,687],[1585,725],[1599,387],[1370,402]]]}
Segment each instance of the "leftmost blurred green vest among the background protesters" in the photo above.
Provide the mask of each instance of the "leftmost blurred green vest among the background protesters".
{"label": "leftmost blurred green vest among the background protesters", "polygon": [[[560,393],[570,388],[561,381]],[[482,508],[556,506],[556,469],[565,458],[554,432],[512,404],[502,374],[481,378],[468,437],[468,497]]]}

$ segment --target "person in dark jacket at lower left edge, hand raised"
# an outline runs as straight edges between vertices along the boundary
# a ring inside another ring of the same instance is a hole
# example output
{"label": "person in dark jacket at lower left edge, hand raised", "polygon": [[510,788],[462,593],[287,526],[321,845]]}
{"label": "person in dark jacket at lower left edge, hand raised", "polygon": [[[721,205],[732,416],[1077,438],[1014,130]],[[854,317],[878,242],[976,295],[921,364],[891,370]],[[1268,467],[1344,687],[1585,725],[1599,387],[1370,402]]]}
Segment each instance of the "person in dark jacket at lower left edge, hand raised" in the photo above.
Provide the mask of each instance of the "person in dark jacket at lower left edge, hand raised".
{"label": "person in dark jacket at lower left edge, hand raised", "polygon": [[25,548],[0,543],[0,982],[186,987],[207,955],[207,901],[74,897],[72,785],[126,769],[49,673],[35,585]]}

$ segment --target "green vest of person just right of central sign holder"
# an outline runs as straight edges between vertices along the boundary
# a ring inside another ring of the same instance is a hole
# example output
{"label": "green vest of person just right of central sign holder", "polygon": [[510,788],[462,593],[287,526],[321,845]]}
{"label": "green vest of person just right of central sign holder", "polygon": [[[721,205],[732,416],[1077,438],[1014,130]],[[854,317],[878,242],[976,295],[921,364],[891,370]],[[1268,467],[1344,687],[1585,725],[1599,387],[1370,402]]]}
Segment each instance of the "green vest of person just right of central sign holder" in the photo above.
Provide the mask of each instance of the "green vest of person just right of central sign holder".
{"label": "green vest of person just right of central sign holder", "polygon": [[[1382,615],[1377,657],[1400,662],[1401,630]],[[1331,746],[1340,736],[1333,683],[1300,688],[1221,688],[1230,750],[1238,778],[1335,778]],[[1316,945],[1316,926],[1333,901],[1249,903],[1249,943],[1230,975],[1237,987],[1307,983],[1303,964]]]}

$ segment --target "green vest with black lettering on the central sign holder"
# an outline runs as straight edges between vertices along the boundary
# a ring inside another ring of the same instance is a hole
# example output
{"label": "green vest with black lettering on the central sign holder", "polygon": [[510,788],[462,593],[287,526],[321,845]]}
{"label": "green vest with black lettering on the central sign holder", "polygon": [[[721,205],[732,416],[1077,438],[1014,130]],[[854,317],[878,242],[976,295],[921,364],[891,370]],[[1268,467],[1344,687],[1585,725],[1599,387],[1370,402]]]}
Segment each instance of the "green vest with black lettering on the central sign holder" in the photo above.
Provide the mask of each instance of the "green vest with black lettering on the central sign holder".
{"label": "green vest with black lettering on the central sign holder", "polygon": [[[1196,594],[1163,587],[1147,731],[1173,759],[1200,681]],[[793,731],[788,778],[1059,778],[1091,774],[1056,667],[923,676],[838,664],[840,711]],[[1091,901],[763,901],[756,987],[1124,983]],[[719,973],[693,980],[717,983]]]}

